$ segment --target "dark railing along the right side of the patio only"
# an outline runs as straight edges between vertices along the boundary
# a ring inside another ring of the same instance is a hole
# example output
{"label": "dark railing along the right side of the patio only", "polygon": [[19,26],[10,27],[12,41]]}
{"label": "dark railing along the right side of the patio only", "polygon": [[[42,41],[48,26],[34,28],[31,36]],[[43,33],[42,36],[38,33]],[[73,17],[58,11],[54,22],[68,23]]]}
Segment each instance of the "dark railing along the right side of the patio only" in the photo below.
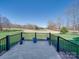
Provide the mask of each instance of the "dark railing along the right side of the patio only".
{"label": "dark railing along the right side of the patio only", "polygon": [[79,45],[64,39],[60,36],[51,36],[52,45],[54,45],[58,52],[65,55],[66,59],[79,59]]}

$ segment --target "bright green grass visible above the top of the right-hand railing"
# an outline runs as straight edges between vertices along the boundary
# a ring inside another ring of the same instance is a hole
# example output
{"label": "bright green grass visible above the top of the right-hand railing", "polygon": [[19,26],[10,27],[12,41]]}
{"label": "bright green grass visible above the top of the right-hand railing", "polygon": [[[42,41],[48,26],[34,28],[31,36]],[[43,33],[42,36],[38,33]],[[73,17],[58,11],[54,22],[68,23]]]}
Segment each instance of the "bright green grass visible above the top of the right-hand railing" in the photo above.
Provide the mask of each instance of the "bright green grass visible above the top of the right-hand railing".
{"label": "bright green grass visible above the top of the right-hand railing", "polygon": [[67,33],[67,34],[55,34],[55,35],[61,36],[61,37],[65,38],[66,40],[69,40],[69,41],[79,45],[79,34]]}

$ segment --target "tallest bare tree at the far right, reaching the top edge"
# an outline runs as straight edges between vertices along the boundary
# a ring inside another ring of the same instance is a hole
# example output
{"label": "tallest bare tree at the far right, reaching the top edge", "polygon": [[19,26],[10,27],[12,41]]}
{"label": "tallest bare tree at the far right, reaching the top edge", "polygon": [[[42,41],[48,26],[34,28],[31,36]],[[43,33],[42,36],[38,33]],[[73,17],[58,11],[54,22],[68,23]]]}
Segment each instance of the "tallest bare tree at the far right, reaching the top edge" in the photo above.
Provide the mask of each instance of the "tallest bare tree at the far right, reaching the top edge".
{"label": "tallest bare tree at the far right, reaching the top edge", "polygon": [[70,7],[67,9],[67,16],[70,17],[69,20],[72,22],[73,31],[77,31],[79,27],[79,0],[73,0]]}

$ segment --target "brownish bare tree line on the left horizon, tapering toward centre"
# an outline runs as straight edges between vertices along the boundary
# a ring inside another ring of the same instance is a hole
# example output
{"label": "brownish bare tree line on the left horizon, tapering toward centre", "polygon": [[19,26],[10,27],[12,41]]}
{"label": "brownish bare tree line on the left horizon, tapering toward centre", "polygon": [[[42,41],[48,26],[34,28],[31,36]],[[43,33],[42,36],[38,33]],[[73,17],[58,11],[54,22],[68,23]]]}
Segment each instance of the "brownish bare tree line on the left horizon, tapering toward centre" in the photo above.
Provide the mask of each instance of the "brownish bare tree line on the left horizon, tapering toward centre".
{"label": "brownish bare tree line on the left horizon, tapering toward centre", "polygon": [[26,24],[26,25],[13,24],[7,17],[0,16],[0,31],[10,30],[11,28],[34,29],[34,30],[44,29],[42,27],[33,24]]}

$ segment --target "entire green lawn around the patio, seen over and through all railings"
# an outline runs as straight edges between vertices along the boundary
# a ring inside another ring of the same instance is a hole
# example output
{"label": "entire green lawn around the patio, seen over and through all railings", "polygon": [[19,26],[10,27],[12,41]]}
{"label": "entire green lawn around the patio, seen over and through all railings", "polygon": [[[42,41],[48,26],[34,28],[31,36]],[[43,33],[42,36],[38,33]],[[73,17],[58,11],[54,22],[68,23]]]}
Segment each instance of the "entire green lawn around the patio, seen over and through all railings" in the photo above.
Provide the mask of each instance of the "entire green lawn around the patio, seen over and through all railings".
{"label": "entire green lawn around the patio, seen over and through all railings", "polygon": [[[0,38],[5,37],[6,35],[13,35],[13,34],[17,34],[17,33],[20,33],[20,31],[0,32]],[[57,36],[61,36],[68,41],[71,41],[75,44],[79,44],[79,34],[67,33],[67,34],[54,34],[54,35],[56,35],[56,36],[54,37],[52,35],[51,38],[52,38],[52,40],[54,39],[53,43],[55,43],[55,44],[57,44],[56,43]],[[35,37],[35,33],[23,33],[23,37],[26,40],[32,40],[32,38]],[[46,39],[47,37],[49,37],[49,33],[48,34],[47,33],[46,34],[37,33],[36,37],[38,39]],[[16,44],[20,40],[20,38],[21,38],[21,34],[10,36],[10,45],[13,46],[14,44]],[[4,40],[3,43],[2,44],[0,43],[0,45],[5,48],[5,38],[3,40]],[[70,42],[64,41],[63,39],[60,39],[60,47],[64,50],[73,51],[73,52],[77,52],[77,48],[78,48],[78,46],[71,44]],[[4,50],[4,49],[2,49],[2,50]]]}

